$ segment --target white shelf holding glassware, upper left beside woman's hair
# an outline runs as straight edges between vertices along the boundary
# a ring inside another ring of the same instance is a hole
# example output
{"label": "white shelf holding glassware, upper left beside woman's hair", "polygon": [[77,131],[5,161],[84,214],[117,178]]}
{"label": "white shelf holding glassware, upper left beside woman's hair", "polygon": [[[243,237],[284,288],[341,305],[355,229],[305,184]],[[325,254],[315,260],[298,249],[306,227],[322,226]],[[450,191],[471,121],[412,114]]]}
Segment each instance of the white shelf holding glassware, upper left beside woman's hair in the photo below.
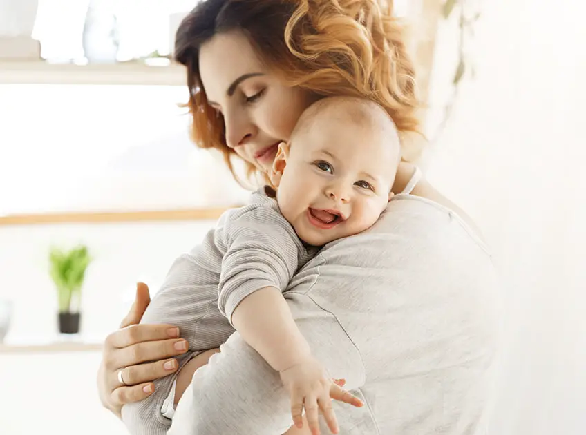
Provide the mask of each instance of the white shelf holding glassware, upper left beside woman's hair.
{"label": "white shelf holding glassware, upper left beside woman's hair", "polygon": [[0,61],[0,84],[120,84],[185,86],[185,67],[120,64],[48,64],[44,61]]}

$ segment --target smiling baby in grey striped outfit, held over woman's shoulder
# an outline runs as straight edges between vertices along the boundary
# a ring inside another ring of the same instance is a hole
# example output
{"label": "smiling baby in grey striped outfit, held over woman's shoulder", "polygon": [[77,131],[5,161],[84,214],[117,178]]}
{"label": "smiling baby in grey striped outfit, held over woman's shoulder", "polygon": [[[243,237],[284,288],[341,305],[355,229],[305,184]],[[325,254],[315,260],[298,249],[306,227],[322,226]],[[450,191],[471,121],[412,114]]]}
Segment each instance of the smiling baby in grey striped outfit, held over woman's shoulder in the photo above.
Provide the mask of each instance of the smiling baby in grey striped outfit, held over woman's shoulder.
{"label": "smiling baby in grey striped outfit, held over woman's shoulder", "polygon": [[[355,97],[317,101],[279,146],[269,174],[275,189],[265,186],[249,205],[227,211],[200,246],[178,258],[142,322],[177,325],[199,352],[220,347],[236,329],[278,371],[297,427],[305,408],[310,428],[319,430],[320,408],[337,433],[333,411],[324,406],[332,381],[282,293],[319,247],[377,222],[393,197],[399,160],[399,137],[384,109]],[[180,367],[191,356],[180,357]],[[144,412],[171,416],[175,383],[169,378],[158,380],[148,399],[122,409],[131,432],[147,433],[138,429]]]}

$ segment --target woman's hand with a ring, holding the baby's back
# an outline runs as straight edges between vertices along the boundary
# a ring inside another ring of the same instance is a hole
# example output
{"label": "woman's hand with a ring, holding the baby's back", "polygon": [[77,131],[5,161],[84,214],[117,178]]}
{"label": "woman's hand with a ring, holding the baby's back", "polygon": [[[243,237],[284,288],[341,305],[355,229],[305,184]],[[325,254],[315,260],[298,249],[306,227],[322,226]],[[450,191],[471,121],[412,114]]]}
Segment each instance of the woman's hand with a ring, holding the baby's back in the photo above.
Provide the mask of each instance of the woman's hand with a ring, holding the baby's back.
{"label": "woman's hand with a ring, holding the baby's back", "polygon": [[[139,282],[134,303],[120,329],[104,342],[97,389],[102,405],[119,418],[122,405],[151,395],[153,380],[177,370],[177,360],[169,357],[187,351],[187,342],[179,338],[179,329],[173,325],[138,325],[150,302],[149,287]],[[124,384],[119,380],[120,370]]]}

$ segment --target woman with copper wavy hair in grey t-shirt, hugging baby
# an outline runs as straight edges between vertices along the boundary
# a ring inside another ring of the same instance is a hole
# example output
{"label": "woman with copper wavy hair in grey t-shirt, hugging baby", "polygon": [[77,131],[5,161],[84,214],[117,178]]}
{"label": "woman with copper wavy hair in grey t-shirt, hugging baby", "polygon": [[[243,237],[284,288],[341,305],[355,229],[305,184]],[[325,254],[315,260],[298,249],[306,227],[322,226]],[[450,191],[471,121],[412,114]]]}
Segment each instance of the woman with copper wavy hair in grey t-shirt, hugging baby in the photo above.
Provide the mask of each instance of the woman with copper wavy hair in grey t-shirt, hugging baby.
{"label": "woman with copper wavy hair in grey t-shirt, hugging baby", "polygon": [[[374,0],[207,0],[181,24],[176,47],[187,66],[196,143],[223,151],[227,164],[237,155],[250,173],[266,173],[276,145],[323,95],[376,101],[405,147],[417,132],[401,31]],[[414,173],[401,164],[393,191],[411,195],[390,202],[370,231],[326,246],[285,293],[316,357],[366,403],[337,411],[341,433],[484,429],[498,319],[491,258],[460,209],[424,180],[411,191]],[[136,325],[148,303],[141,285],[104,347],[100,396],[118,415],[122,404],[150,396],[153,380],[176,372],[173,357],[187,349],[175,325]],[[179,357],[171,432],[283,432],[288,396],[270,367],[238,334],[215,352],[185,367],[189,355]]]}

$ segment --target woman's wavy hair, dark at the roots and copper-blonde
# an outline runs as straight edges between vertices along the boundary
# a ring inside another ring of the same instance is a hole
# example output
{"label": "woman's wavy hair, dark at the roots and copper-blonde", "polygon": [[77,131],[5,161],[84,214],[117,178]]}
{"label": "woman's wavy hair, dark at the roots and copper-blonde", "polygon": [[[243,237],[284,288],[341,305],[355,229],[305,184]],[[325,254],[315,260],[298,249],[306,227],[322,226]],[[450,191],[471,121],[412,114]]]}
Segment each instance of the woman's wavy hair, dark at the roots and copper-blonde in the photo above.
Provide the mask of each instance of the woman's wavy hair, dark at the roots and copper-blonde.
{"label": "woman's wavy hair, dark at the roots and copper-blonde", "polygon": [[[402,133],[418,133],[415,72],[393,2],[382,0],[206,0],[180,24],[175,58],[187,66],[191,136],[217,148],[233,171],[223,117],[207,104],[199,51],[214,35],[239,30],[285,84],[322,96],[366,97]],[[248,175],[254,167],[248,166]]]}

